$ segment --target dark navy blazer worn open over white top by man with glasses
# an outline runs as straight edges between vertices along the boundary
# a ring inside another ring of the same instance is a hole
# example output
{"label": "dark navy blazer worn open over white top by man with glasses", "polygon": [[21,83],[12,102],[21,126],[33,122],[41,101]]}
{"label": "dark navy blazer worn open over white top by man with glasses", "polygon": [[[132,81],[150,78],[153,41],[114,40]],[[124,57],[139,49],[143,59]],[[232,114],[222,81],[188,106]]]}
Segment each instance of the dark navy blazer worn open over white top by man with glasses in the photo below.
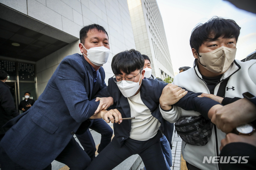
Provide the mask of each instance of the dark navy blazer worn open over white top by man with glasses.
{"label": "dark navy blazer worn open over white top by man with glasses", "polygon": [[[162,90],[168,83],[163,83],[154,79],[144,78],[140,88],[140,97],[146,107],[149,108],[151,114],[163,124],[163,133],[167,140],[171,143],[171,136],[173,128],[170,124],[166,124],[166,120],[162,118],[159,108],[159,98],[162,94]],[[220,104],[207,97],[197,97],[202,93],[194,93],[188,91],[188,93],[180,99],[175,105],[185,110],[193,110],[199,113],[208,113],[209,109],[215,104]],[[117,84],[113,78],[108,80],[108,86],[102,89],[98,94],[98,97],[113,97],[114,105],[116,109],[122,114],[122,118],[131,117],[130,105],[126,97],[123,96],[118,89]],[[114,138],[112,140],[117,146],[121,147],[123,142],[130,136],[131,120],[124,120],[121,124],[114,123]]]}

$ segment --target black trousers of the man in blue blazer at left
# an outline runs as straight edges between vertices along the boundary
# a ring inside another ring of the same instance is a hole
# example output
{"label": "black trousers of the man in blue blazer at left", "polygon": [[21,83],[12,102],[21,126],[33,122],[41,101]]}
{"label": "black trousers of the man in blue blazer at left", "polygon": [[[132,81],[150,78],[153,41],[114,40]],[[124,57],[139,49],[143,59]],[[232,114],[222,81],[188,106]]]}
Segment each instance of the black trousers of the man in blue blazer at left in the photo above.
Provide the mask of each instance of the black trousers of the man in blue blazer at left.
{"label": "black trousers of the man in blue blazer at left", "polygon": [[[70,170],[84,170],[91,163],[90,157],[80,147],[79,143],[75,141],[74,137],[71,138],[68,145],[55,160],[67,165]],[[0,164],[1,170],[26,170],[22,166],[13,162],[2,147],[0,147]],[[46,168],[42,168],[42,170],[51,169],[51,164]]]}

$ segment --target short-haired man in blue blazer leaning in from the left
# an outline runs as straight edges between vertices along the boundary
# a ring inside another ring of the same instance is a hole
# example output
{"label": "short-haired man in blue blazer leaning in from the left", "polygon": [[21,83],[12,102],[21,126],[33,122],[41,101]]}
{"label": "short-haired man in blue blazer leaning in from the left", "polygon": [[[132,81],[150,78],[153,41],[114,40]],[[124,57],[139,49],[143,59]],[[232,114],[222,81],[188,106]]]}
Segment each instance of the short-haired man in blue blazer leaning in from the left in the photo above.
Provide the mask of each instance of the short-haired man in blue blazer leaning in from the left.
{"label": "short-haired man in blue blazer leaning in from the left", "polygon": [[113,100],[92,100],[106,86],[101,66],[110,46],[106,30],[97,24],[82,28],[80,41],[83,55],[66,56],[34,105],[6,124],[11,129],[0,143],[2,170],[51,169],[54,159],[75,170],[90,164],[73,135],[83,122],[80,133],[85,132],[86,120]]}

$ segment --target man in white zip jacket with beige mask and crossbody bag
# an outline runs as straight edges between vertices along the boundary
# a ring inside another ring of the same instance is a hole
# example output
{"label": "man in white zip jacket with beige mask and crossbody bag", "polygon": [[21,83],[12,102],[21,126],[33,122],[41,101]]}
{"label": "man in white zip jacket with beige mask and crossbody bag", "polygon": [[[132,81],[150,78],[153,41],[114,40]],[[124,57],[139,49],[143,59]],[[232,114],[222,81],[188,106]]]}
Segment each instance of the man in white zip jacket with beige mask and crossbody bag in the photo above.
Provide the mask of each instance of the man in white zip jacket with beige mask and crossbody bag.
{"label": "man in white zip jacket with beige mask and crossbody bag", "polygon": [[[213,17],[204,24],[193,29],[190,46],[195,58],[194,67],[176,75],[174,84],[194,92],[203,92],[219,96],[223,105],[242,98],[242,93],[250,91],[256,94],[256,60],[241,62],[235,60],[236,42],[240,27],[234,20]],[[166,90],[166,89],[164,89]],[[165,91],[163,90],[163,94]],[[168,95],[167,91],[165,93]],[[165,97],[160,98],[160,104]],[[164,119],[175,123],[181,117],[198,116],[200,113],[172,109],[171,114],[163,115]],[[212,119],[215,115],[202,115]],[[225,133],[215,125],[212,135],[204,146],[194,146],[182,142],[182,155],[189,170],[219,170],[217,156],[220,154],[220,141]],[[209,163],[203,161],[215,157]]]}

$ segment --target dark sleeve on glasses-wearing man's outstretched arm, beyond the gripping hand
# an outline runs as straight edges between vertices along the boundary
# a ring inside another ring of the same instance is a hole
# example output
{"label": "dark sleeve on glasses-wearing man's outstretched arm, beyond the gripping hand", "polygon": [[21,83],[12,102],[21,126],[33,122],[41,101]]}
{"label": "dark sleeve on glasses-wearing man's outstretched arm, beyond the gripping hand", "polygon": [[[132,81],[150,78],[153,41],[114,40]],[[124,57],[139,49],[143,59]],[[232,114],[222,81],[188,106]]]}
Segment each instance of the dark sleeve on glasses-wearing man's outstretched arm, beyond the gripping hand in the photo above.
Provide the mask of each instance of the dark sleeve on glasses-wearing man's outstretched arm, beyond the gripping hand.
{"label": "dark sleeve on glasses-wearing man's outstretched arm, beyond the gripping hand", "polygon": [[[182,88],[185,89],[185,88]],[[185,89],[186,90],[186,89]],[[197,97],[202,93],[194,93],[192,91],[187,90],[188,93],[182,97],[177,103],[174,105],[181,107],[186,111],[195,111],[202,114],[202,116],[206,119],[208,118],[208,112],[210,108],[212,108],[216,104],[220,104],[208,97]]]}

